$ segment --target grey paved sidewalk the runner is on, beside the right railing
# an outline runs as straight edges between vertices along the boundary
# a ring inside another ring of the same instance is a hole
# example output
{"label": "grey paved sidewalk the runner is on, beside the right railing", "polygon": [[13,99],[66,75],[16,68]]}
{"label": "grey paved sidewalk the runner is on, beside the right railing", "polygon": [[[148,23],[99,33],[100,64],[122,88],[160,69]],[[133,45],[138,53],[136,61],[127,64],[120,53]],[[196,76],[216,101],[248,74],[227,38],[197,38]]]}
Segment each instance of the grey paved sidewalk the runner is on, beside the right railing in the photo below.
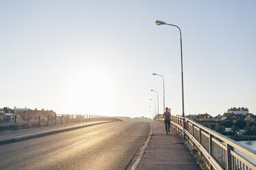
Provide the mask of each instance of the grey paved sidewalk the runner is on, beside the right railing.
{"label": "grey paved sidewalk the runner is on, beside the right railing", "polygon": [[137,169],[200,169],[178,133],[170,129],[167,135],[164,123],[153,121],[153,135]]}

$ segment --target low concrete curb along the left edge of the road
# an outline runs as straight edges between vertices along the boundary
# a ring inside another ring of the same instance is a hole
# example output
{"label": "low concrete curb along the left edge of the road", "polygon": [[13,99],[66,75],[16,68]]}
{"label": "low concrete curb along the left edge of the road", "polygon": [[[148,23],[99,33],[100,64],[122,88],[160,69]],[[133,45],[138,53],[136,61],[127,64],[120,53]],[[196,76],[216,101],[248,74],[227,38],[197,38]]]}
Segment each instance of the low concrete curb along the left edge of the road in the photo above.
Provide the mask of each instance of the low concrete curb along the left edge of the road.
{"label": "low concrete curb along the left edge of the road", "polygon": [[91,123],[91,124],[85,124],[85,125],[76,126],[76,127],[66,127],[66,128],[61,129],[61,130],[48,130],[48,132],[37,132],[37,133],[34,133],[34,134],[27,134],[27,135],[18,136],[18,137],[6,138],[6,139],[3,139],[3,140],[0,140],[0,144],[12,143],[12,142],[15,142],[15,141],[22,141],[22,140],[29,139],[29,138],[35,138],[35,137],[40,137],[40,136],[47,136],[47,135],[50,135],[50,134],[57,134],[57,133],[61,133],[61,132],[67,132],[67,131],[70,131],[70,130],[77,130],[77,129],[80,129],[80,128],[83,128],[83,127],[89,127],[89,126],[92,126],[92,125],[100,125],[100,124],[103,124],[103,123],[110,123],[110,122],[114,122],[114,121],[104,121],[104,122],[98,122],[98,123]]}

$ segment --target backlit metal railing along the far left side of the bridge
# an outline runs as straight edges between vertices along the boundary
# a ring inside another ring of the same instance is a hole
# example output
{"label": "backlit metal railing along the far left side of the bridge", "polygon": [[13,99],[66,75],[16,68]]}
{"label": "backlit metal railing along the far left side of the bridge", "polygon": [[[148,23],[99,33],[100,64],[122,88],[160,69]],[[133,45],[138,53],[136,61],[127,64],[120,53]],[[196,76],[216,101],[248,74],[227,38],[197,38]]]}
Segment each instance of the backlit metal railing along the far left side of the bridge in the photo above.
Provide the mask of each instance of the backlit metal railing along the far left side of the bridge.
{"label": "backlit metal railing along the far left side of the bridge", "polygon": [[48,125],[65,125],[70,123],[92,123],[96,121],[118,121],[113,117],[83,114],[49,114],[49,115],[1,115],[0,128],[24,128]]}

